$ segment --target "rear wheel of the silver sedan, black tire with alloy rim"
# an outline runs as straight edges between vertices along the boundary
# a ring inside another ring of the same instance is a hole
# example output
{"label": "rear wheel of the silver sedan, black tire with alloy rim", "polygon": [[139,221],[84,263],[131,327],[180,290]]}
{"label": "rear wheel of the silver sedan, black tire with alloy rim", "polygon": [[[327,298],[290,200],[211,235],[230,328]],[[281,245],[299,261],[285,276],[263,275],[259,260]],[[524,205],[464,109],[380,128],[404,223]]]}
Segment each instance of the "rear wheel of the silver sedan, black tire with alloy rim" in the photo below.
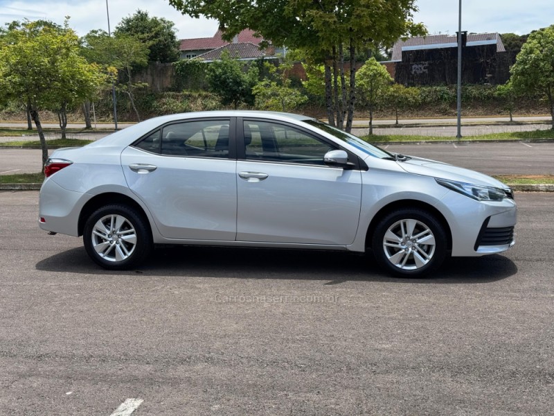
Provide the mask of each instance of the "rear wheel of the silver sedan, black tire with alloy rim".
{"label": "rear wheel of the silver sedan, black tire with alloy rim", "polygon": [[153,245],[148,221],[127,205],[105,205],[94,211],[84,225],[83,243],[89,257],[108,270],[138,266]]}

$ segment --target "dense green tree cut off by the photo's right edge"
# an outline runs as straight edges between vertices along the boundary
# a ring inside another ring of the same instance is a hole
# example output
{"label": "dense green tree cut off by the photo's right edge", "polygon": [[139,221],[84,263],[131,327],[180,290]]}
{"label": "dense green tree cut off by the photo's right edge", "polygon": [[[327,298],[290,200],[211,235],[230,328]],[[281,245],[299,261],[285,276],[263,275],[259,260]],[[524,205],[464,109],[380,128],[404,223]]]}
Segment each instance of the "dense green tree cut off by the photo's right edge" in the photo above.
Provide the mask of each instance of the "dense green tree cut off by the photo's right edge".
{"label": "dense green tree cut off by the photo's right edge", "polygon": [[529,35],[510,73],[515,92],[546,98],[554,130],[554,25]]}

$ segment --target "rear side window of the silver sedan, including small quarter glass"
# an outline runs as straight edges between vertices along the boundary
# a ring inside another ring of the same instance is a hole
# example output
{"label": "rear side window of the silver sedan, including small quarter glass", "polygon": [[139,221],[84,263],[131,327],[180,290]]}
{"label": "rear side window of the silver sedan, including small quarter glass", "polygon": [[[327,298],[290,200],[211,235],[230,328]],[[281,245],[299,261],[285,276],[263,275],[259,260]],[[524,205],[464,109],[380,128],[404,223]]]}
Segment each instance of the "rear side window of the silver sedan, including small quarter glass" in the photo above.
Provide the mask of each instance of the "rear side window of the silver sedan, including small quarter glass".
{"label": "rear side window of the silver sedan, including small quarter glass", "polygon": [[135,147],[168,156],[229,157],[229,120],[168,124]]}

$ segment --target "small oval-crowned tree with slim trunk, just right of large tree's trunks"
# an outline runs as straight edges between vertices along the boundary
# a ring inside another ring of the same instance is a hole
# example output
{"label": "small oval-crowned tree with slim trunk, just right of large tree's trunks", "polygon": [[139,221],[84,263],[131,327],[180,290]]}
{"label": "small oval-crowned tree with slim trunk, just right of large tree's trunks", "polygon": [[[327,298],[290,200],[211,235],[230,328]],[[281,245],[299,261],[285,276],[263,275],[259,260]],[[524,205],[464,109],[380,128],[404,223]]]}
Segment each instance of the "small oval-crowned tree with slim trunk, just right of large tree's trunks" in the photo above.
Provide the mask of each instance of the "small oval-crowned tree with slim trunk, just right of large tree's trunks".
{"label": "small oval-crowned tree with slim trunk, just right of large tree's trunks", "polygon": [[359,69],[356,77],[361,102],[369,110],[369,134],[373,135],[373,112],[384,102],[384,98],[393,83],[393,78],[375,58],[369,58]]}

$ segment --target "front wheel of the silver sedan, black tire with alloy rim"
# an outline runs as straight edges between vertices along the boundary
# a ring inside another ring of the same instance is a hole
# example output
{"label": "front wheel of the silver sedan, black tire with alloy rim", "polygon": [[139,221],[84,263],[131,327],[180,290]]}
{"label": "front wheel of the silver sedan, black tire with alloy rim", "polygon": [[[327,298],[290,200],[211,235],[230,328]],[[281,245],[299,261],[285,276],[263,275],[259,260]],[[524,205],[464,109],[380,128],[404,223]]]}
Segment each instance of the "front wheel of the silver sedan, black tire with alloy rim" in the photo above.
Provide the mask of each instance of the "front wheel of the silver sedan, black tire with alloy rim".
{"label": "front wheel of the silver sedan, black tire with alloy rim", "polygon": [[391,212],[375,228],[371,243],[377,264],[399,277],[423,277],[437,270],[447,254],[443,225],[422,209]]}

